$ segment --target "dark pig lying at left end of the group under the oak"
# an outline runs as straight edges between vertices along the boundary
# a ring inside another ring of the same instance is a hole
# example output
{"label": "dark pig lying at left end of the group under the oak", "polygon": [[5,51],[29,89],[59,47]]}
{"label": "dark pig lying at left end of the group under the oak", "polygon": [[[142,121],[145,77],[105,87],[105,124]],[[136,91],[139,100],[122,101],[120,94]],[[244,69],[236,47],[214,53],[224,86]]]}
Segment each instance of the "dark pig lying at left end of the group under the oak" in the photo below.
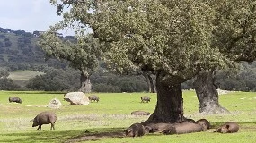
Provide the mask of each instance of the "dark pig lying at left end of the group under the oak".
{"label": "dark pig lying at left end of the group under the oak", "polygon": [[140,137],[143,136],[145,132],[145,127],[141,123],[134,123],[125,130],[125,134],[128,137]]}

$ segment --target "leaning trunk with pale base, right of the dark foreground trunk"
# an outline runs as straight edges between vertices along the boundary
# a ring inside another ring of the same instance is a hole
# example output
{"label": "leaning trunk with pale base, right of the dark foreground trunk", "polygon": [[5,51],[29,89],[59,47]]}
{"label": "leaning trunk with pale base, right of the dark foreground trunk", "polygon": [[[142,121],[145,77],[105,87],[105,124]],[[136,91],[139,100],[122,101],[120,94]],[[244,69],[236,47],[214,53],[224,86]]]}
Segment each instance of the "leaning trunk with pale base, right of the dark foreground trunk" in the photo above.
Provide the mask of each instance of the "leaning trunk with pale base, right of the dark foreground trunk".
{"label": "leaning trunk with pale base, right of the dark foreground trunk", "polygon": [[229,113],[218,103],[214,71],[200,71],[193,83],[199,100],[199,113],[201,114]]}

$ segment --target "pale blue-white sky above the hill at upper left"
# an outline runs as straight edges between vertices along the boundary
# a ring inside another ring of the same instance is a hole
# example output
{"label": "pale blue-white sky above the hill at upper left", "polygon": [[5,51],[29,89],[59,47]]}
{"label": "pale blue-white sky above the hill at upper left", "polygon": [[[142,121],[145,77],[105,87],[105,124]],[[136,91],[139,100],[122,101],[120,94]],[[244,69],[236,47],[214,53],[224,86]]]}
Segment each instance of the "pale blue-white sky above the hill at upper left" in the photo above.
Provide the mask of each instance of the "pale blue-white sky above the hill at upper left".
{"label": "pale blue-white sky above the hill at upper left", "polygon": [[[12,30],[45,31],[61,20],[49,0],[0,0],[0,27]],[[72,30],[60,31],[74,35]]]}

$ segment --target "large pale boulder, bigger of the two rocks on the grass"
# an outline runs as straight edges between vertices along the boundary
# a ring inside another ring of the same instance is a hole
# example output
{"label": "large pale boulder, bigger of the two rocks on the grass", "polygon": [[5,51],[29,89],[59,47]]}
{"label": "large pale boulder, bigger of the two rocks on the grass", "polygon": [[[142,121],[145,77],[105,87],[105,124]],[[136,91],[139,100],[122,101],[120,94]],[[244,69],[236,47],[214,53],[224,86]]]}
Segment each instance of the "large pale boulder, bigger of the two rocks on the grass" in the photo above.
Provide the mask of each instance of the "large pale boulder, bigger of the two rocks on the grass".
{"label": "large pale boulder, bigger of the two rocks on the grass", "polygon": [[70,105],[89,105],[89,98],[83,92],[68,92],[64,95],[64,100]]}

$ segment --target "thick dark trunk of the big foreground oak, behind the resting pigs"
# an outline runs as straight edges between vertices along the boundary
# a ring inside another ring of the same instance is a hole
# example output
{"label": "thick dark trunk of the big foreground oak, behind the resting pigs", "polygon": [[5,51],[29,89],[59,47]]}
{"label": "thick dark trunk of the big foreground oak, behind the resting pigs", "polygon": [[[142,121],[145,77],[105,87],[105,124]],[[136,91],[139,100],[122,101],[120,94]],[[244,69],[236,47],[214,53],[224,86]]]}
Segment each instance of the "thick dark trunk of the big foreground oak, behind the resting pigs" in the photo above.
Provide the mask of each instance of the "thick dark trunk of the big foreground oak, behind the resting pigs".
{"label": "thick dark trunk of the big foreground oak, behind the resting pigs", "polygon": [[162,73],[156,75],[156,89],[157,89],[157,103],[154,113],[150,115],[146,122],[182,122],[183,117],[183,98],[181,83],[183,80],[176,80],[172,82],[174,76],[169,76],[168,81],[166,76]]}

